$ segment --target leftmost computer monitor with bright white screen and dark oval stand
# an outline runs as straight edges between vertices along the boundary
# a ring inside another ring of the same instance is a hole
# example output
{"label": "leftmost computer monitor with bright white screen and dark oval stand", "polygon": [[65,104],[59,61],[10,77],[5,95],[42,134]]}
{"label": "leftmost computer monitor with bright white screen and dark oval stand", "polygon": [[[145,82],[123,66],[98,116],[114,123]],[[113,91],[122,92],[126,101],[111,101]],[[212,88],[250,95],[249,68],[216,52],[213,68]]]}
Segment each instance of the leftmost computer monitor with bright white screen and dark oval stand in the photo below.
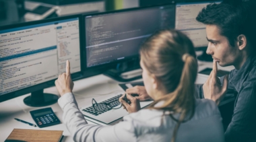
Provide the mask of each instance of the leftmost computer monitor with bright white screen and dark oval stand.
{"label": "leftmost computer monitor with bright white screen and dark oval stand", "polygon": [[28,106],[46,106],[58,96],[44,94],[71,63],[81,76],[79,15],[0,27],[0,102],[31,93]]}

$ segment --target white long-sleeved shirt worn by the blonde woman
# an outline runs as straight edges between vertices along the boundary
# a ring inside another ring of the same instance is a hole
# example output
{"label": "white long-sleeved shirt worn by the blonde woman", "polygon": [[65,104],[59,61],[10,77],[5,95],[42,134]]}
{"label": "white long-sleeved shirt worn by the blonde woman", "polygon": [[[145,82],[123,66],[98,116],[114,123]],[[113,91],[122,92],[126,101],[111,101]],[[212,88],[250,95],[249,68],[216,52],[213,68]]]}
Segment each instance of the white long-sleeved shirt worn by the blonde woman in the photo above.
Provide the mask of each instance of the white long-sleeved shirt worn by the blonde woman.
{"label": "white long-sleeved shirt worn by the blonde woman", "polygon": [[[123,117],[113,126],[88,125],[77,107],[73,94],[58,100],[63,122],[74,141],[168,141],[177,124],[162,110],[142,109]],[[224,129],[218,107],[212,100],[196,100],[193,118],[180,125],[176,142],[224,141]]]}

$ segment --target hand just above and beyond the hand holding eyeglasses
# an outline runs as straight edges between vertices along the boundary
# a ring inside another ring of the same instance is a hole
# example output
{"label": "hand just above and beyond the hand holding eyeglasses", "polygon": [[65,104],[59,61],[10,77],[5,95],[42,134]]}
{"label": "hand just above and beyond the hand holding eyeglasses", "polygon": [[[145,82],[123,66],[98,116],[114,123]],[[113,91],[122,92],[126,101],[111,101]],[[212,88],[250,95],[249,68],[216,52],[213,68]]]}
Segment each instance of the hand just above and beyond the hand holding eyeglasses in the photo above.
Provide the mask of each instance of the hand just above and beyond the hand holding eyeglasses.
{"label": "hand just above and beyond the hand holding eyeglasses", "polygon": [[146,92],[146,89],[144,86],[136,85],[135,87],[128,88],[126,90],[126,93],[139,95],[139,96],[136,96],[135,98],[138,98],[140,101],[152,99]]}

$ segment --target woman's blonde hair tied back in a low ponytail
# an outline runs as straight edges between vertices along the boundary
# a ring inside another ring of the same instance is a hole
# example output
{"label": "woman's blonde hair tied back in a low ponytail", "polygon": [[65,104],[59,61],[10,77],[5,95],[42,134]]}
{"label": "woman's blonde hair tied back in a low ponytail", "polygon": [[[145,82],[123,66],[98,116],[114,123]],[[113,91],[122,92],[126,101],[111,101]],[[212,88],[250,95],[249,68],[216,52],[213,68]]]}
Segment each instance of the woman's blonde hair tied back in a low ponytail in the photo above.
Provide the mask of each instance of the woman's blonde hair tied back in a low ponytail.
{"label": "woman's blonde hair tied back in a low ponytail", "polygon": [[[177,30],[161,30],[143,43],[140,55],[146,69],[166,89],[167,94],[155,100],[149,108],[172,112],[170,117],[177,122],[171,140],[174,142],[181,122],[192,118],[195,112],[197,61],[193,43]],[[162,101],[162,106],[155,106]],[[172,114],[179,114],[179,118]]]}

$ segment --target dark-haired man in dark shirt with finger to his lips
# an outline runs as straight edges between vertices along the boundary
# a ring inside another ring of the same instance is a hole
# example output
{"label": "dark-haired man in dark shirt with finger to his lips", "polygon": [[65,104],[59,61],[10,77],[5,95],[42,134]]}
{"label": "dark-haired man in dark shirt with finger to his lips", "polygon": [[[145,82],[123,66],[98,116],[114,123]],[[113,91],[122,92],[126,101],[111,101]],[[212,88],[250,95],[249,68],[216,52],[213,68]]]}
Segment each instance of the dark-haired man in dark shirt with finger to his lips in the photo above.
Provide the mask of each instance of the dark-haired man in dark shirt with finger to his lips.
{"label": "dark-haired man in dark shirt with finger to his lips", "polygon": [[[236,92],[234,113],[225,133],[226,141],[256,141],[256,17],[253,1],[211,4],[196,20],[206,25],[207,54],[214,59],[213,71],[201,87],[200,98],[218,104],[227,90]],[[218,79],[217,65],[233,65],[228,77]],[[199,90],[200,92],[200,90]]]}

